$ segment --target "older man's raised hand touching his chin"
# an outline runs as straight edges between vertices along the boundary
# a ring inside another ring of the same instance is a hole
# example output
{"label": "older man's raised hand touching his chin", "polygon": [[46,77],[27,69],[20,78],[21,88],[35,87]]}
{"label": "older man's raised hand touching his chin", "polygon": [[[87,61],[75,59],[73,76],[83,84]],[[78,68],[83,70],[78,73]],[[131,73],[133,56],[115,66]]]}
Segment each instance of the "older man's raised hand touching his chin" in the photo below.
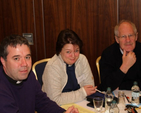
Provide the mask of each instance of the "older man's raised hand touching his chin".
{"label": "older man's raised hand touching his chin", "polygon": [[127,73],[130,67],[132,67],[136,62],[136,55],[134,52],[126,52],[125,50],[123,51],[123,56],[122,56],[122,65],[120,67],[120,70],[123,73]]}

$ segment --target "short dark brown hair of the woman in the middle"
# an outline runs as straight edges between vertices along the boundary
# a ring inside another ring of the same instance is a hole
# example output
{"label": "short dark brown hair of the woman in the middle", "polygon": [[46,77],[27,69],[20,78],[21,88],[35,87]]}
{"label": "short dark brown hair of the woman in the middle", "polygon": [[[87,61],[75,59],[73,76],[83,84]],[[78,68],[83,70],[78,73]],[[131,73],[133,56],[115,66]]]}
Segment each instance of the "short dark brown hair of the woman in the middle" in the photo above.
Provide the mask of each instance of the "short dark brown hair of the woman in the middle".
{"label": "short dark brown hair of the woman in the middle", "polygon": [[80,51],[83,46],[83,42],[79,38],[79,36],[74,31],[69,29],[62,30],[58,35],[57,42],[56,42],[57,55],[59,55],[59,53],[61,52],[65,44],[78,45],[80,48]]}

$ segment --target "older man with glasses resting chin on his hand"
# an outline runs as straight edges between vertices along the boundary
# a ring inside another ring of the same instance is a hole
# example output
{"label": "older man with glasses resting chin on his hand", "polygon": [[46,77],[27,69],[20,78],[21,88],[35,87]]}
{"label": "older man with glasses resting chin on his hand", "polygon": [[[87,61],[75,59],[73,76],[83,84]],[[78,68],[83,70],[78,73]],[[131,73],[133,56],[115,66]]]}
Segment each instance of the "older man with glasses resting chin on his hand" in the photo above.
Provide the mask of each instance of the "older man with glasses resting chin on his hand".
{"label": "older man with glasses resting chin on his hand", "polygon": [[137,42],[137,28],[131,21],[122,20],[114,33],[116,42],[101,55],[98,89],[130,90],[134,81],[141,88],[141,43]]}

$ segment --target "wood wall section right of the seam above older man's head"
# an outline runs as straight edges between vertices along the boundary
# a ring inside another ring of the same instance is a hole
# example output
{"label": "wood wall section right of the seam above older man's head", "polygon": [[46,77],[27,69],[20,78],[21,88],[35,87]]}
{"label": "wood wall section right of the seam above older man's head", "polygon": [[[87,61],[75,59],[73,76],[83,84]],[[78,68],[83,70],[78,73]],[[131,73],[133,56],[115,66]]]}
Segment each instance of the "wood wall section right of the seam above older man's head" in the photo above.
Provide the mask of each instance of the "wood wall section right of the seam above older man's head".
{"label": "wood wall section right of the seam above older man's head", "polygon": [[119,0],[119,20],[127,19],[135,23],[138,29],[138,41],[141,42],[141,0]]}

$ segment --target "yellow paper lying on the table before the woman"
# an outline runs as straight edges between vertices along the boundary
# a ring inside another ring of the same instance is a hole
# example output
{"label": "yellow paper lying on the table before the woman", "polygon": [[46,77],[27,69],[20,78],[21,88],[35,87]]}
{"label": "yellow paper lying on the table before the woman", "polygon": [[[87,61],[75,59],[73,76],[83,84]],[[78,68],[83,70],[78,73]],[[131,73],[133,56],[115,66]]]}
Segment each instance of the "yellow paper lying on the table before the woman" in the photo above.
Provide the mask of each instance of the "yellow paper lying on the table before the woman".
{"label": "yellow paper lying on the table before the woman", "polygon": [[90,111],[84,107],[77,105],[77,104],[65,104],[65,105],[62,105],[61,107],[64,108],[65,110],[67,110],[71,106],[74,106],[75,108],[77,108],[79,113],[95,113],[94,111]]}

